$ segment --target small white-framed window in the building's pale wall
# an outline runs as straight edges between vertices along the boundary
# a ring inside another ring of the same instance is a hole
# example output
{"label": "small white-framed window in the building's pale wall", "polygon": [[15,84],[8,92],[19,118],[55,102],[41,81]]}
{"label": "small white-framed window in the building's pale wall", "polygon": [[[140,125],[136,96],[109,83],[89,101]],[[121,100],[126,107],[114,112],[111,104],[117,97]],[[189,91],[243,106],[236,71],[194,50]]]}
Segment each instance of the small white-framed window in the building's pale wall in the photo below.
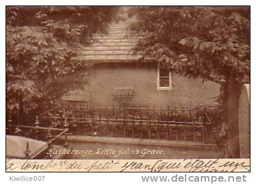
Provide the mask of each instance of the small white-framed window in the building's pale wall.
{"label": "small white-framed window in the building's pale wall", "polygon": [[171,72],[157,67],[157,90],[171,90]]}

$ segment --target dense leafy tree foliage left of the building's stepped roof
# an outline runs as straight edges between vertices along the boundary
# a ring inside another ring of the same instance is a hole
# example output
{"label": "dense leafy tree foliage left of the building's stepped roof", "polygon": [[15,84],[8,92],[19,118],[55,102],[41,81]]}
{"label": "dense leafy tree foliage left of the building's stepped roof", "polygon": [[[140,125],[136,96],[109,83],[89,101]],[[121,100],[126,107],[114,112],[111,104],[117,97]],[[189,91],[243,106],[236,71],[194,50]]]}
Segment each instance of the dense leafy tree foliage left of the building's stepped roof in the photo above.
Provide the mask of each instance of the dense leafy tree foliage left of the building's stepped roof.
{"label": "dense leafy tree foliage left of the building's stepped roof", "polygon": [[77,49],[117,19],[116,7],[7,7],[7,109],[49,108],[90,66]]}

